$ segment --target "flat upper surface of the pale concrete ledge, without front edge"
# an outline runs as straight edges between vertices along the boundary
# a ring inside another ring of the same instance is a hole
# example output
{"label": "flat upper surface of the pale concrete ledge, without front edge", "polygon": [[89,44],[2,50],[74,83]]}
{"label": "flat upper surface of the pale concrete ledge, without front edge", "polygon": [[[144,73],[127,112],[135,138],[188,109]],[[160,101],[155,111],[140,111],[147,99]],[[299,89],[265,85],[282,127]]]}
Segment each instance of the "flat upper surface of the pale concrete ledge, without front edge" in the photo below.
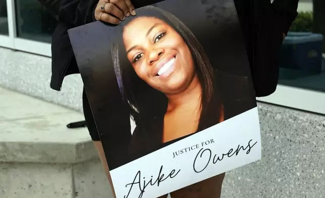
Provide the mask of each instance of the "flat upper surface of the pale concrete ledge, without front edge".
{"label": "flat upper surface of the pale concrete ledge, without front edge", "polygon": [[90,137],[86,130],[66,127],[83,119],[75,111],[0,87],[1,141],[87,141]]}

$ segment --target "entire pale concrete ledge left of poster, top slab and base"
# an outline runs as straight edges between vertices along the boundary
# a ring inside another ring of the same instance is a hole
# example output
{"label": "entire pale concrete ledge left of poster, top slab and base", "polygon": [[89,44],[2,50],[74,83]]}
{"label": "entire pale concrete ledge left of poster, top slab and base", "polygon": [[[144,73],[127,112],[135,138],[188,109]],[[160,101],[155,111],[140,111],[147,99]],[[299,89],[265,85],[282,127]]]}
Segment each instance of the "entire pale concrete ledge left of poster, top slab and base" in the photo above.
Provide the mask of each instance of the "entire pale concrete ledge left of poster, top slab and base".
{"label": "entire pale concrete ledge left of poster, top slab and base", "polygon": [[111,197],[82,114],[0,87],[0,197]]}

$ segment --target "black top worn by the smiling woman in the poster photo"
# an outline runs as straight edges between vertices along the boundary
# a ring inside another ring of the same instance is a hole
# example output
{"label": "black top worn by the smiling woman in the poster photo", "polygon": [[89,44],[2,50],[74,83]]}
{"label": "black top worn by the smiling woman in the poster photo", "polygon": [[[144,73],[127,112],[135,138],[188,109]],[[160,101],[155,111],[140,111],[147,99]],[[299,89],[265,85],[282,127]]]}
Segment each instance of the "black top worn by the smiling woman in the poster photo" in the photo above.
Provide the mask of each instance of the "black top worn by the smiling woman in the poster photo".
{"label": "black top worn by the smiling woman in the poster photo", "polygon": [[[222,95],[222,103],[224,106],[224,120],[228,120],[256,107],[255,97],[253,96],[252,92],[253,88],[250,86],[249,81],[246,77],[232,76],[219,72],[214,73],[214,76],[218,75],[218,81],[214,80],[215,87],[220,87],[216,84],[220,82],[227,85],[226,88],[218,91],[219,94]],[[133,131],[129,146],[129,159],[127,162],[141,158],[176,141],[200,132],[197,131],[195,133],[163,143],[162,138],[164,129],[164,115],[146,120],[145,123],[146,130],[143,130],[143,128],[136,126]],[[215,124],[218,124],[218,122],[213,123],[213,125]]]}

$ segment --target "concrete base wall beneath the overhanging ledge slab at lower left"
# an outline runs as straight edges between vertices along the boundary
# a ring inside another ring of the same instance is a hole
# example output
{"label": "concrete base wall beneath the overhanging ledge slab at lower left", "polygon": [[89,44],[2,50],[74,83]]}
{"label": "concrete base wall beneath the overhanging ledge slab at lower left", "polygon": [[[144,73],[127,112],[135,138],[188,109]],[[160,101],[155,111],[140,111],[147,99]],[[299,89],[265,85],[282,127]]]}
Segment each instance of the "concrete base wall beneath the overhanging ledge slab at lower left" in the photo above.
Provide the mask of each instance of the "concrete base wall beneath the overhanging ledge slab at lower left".
{"label": "concrete base wall beneath the overhanging ledge slab at lower left", "polygon": [[2,198],[110,198],[99,160],[82,164],[0,163]]}

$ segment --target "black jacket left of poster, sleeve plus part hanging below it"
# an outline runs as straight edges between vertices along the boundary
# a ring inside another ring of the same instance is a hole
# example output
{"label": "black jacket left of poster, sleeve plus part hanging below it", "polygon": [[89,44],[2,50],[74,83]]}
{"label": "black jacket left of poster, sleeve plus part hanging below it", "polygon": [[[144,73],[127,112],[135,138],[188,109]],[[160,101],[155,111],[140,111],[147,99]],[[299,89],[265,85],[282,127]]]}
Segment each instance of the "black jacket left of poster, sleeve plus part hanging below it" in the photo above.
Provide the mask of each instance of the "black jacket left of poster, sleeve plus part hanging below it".
{"label": "black jacket left of poster, sleeve plus part hanging below it", "polygon": [[61,90],[65,76],[79,73],[67,30],[95,21],[98,0],[38,0],[59,22],[52,34],[52,75],[50,87]]}

